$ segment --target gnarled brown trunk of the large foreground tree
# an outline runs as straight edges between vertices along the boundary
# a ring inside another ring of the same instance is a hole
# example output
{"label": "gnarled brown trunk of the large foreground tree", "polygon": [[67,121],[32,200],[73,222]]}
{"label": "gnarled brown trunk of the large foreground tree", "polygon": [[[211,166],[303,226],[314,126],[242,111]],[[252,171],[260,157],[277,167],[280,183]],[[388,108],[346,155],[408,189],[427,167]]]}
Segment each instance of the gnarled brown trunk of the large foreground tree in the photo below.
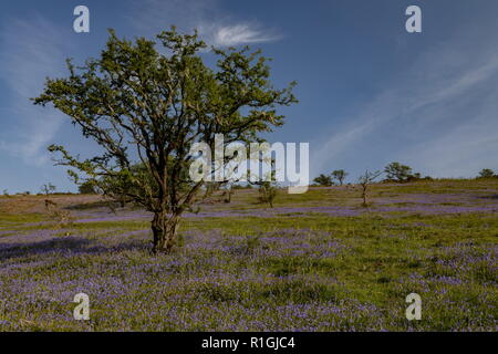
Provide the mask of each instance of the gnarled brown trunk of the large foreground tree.
{"label": "gnarled brown trunk of the large foreground tree", "polygon": [[178,233],[180,216],[156,212],[152,221],[154,236],[153,253],[169,253]]}

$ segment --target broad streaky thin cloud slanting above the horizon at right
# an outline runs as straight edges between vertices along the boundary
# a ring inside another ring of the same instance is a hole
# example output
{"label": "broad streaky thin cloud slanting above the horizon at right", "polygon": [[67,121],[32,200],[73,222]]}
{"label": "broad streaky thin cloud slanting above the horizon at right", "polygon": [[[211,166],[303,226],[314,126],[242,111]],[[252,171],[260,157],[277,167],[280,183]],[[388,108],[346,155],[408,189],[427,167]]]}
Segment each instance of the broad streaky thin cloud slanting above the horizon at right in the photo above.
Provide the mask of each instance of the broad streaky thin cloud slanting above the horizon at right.
{"label": "broad streaky thin cloud slanting above the horizon at right", "polygon": [[313,173],[351,158],[364,168],[382,168],[370,166],[372,160],[401,160],[439,177],[498,168],[491,158],[498,153],[498,51],[491,46],[457,35],[419,55],[321,139]]}

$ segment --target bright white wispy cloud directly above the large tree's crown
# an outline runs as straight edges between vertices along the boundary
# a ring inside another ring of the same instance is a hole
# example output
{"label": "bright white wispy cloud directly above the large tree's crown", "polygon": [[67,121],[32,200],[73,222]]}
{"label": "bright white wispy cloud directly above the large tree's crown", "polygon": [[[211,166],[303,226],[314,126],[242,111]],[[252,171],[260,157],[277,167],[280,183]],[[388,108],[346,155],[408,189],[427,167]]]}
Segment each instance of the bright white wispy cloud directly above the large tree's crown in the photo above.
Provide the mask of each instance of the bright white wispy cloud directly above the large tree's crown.
{"label": "bright white wispy cloud directly above the large tree's crown", "polygon": [[[137,11],[139,7],[139,12]],[[145,9],[145,10],[143,10]],[[256,21],[236,20],[214,0],[132,1],[132,24],[146,33],[157,33],[172,24],[183,31],[194,29],[209,45],[235,46],[281,39],[274,30]]]}

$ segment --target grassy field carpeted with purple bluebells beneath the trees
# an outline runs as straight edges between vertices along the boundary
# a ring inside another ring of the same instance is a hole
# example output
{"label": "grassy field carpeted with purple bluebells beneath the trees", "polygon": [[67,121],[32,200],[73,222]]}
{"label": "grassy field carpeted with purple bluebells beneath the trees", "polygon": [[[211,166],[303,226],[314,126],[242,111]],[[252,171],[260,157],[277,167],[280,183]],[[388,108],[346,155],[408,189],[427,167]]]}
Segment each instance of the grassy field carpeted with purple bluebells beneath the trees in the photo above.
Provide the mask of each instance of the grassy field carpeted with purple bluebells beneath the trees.
{"label": "grassy field carpeted with purple bluebells beneath the trees", "polygon": [[[498,181],[237,190],[152,256],[151,216],[96,196],[0,198],[0,331],[497,331]],[[76,293],[91,320],[75,321]],[[422,298],[407,321],[405,298]]]}

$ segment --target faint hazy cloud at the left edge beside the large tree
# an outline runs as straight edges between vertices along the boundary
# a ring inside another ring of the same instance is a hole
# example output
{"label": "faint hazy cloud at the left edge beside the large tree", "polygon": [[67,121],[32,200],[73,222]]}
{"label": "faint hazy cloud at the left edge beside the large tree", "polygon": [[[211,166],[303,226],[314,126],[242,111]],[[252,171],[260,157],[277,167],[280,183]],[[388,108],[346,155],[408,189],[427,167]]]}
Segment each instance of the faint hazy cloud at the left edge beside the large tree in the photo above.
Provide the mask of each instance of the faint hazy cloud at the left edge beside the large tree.
{"label": "faint hazy cloud at the left edge beside the large tree", "polygon": [[2,113],[0,149],[30,164],[46,162],[45,145],[62,124],[62,115],[33,106],[44,79],[64,67],[60,31],[42,17],[3,23],[0,77],[9,87],[10,105]]}

